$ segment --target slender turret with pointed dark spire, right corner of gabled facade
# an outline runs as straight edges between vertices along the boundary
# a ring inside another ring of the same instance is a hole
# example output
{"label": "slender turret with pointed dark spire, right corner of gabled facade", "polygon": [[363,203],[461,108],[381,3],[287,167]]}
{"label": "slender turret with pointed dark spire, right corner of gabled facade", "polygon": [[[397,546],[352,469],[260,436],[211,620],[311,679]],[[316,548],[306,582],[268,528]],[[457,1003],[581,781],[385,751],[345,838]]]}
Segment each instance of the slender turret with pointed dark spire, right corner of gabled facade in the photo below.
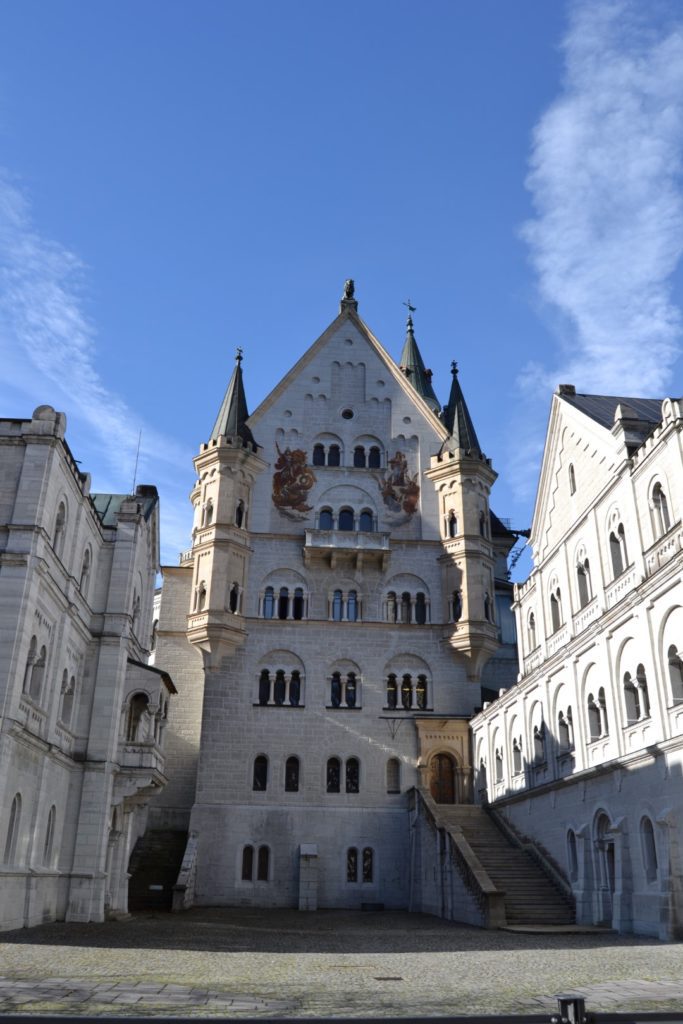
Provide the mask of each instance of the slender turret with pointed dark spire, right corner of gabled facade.
{"label": "slender turret with pointed dark spire, right corner of gabled facade", "polygon": [[434,481],[441,517],[440,563],[449,623],[444,639],[464,659],[469,678],[478,681],[499,647],[488,509],[498,474],[479,446],[455,362],[452,372],[451,396],[443,411],[450,437],[432,457],[426,475]]}

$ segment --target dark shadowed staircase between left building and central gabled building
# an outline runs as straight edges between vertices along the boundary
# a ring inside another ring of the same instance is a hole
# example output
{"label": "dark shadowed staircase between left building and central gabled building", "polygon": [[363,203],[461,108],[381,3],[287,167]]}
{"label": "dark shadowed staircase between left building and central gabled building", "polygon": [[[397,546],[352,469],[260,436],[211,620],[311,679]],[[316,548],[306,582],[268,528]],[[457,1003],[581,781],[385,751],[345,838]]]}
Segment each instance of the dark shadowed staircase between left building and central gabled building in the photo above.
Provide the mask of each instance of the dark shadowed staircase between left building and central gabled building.
{"label": "dark shadowed staircase between left building and central gabled building", "polygon": [[170,910],[187,833],[146,831],[133,847],[128,864],[129,910]]}

